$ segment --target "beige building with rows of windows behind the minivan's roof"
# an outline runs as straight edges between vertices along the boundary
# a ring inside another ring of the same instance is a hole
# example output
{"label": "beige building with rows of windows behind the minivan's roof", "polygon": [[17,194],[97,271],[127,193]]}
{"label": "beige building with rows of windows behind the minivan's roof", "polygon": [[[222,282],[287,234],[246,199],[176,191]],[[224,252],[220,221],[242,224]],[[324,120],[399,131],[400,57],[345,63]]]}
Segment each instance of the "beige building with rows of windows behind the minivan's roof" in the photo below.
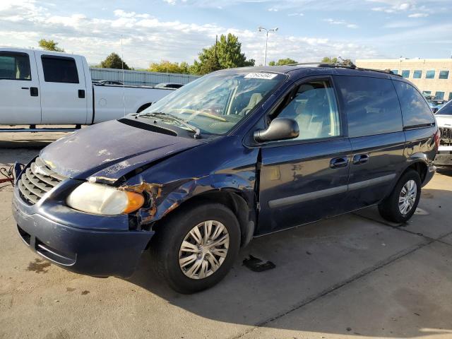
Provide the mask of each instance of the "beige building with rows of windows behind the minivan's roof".
{"label": "beige building with rows of windows behind the minivan's roof", "polygon": [[362,59],[356,66],[390,69],[438,100],[452,100],[452,59]]}

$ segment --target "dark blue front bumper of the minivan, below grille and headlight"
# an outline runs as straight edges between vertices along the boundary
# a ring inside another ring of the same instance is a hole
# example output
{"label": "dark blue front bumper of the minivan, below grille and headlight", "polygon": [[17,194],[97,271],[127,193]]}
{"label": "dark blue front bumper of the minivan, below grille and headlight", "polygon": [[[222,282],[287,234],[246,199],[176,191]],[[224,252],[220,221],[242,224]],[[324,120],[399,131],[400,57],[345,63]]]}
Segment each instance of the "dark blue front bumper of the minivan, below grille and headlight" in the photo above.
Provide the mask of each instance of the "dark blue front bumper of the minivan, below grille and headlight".
{"label": "dark blue front bumper of the minivan, below grille and headlight", "polygon": [[25,244],[40,256],[76,273],[128,278],[154,234],[63,225],[39,213],[28,214],[19,199],[16,189],[13,216]]}

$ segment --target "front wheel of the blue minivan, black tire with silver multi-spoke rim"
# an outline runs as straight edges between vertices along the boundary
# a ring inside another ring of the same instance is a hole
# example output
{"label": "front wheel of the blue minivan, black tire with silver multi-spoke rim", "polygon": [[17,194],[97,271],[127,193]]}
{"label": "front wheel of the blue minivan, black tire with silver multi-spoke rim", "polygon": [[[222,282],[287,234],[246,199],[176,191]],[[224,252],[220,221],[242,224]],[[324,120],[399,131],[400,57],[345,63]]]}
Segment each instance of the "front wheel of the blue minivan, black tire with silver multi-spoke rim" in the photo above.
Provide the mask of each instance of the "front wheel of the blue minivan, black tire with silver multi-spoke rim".
{"label": "front wheel of the blue minivan, black tire with silver multi-spoke rim", "polygon": [[[212,220],[213,222],[210,223]],[[207,243],[208,240],[205,239],[205,227],[208,227],[205,226],[206,222],[208,222],[207,225],[211,225],[212,230],[210,232],[212,237],[209,237],[210,244],[220,243],[221,239],[227,239],[226,236],[229,237],[228,244],[224,241],[225,243],[218,247],[210,247]],[[198,249],[192,248],[198,244],[192,235],[198,237],[198,233],[191,232],[195,227],[198,227],[198,232],[201,234],[201,249],[199,247]],[[217,238],[214,238],[217,230],[222,230],[222,232]],[[212,239],[218,241],[212,242]],[[184,244],[188,242],[189,246],[182,247],[183,242]],[[162,220],[162,224],[159,225],[150,243],[150,253],[153,256],[153,265],[158,275],[173,290],[191,294],[206,290],[222,280],[237,258],[239,247],[240,227],[234,213],[220,203],[196,203],[196,205],[191,204],[185,208],[182,206]],[[189,251],[186,252],[182,249]],[[196,256],[196,259],[193,256]],[[186,262],[182,264],[179,263],[179,260]],[[186,266],[182,268],[184,264]],[[190,270],[191,268],[193,272]],[[203,268],[206,269],[203,270]]]}

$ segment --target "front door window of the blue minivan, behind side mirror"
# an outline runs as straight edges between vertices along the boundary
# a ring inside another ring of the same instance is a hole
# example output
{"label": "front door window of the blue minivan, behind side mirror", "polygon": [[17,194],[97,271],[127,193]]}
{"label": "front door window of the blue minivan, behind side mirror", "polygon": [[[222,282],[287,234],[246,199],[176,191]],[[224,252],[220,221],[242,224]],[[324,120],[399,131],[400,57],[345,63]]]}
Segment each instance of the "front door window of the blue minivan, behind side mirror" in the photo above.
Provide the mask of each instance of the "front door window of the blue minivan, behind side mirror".
{"label": "front door window of the blue minivan, behind side mirror", "polygon": [[292,140],[340,136],[338,104],[330,81],[309,81],[300,85],[278,118],[297,121],[299,136]]}

